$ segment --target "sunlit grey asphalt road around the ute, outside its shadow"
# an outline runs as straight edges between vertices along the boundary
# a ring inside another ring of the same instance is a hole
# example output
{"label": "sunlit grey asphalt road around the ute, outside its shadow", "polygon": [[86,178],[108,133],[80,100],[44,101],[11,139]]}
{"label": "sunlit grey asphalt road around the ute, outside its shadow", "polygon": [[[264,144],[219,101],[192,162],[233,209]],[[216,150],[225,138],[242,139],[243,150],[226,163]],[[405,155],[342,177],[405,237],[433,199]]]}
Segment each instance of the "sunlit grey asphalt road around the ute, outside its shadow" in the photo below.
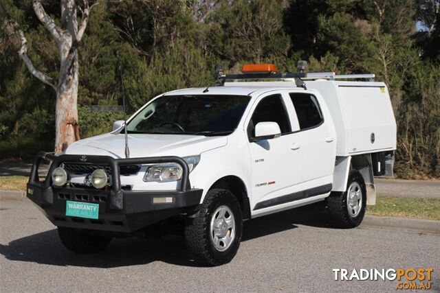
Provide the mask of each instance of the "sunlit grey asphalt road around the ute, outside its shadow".
{"label": "sunlit grey asphalt road around the ute, outside its shadow", "polygon": [[315,211],[246,222],[232,262],[201,268],[176,237],[115,239],[103,253],[75,255],[30,201],[0,201],[0,292],[395,291],[395,281],[334,281],[333,268],[433,268],[440,291],[440,235],[339,230]]}

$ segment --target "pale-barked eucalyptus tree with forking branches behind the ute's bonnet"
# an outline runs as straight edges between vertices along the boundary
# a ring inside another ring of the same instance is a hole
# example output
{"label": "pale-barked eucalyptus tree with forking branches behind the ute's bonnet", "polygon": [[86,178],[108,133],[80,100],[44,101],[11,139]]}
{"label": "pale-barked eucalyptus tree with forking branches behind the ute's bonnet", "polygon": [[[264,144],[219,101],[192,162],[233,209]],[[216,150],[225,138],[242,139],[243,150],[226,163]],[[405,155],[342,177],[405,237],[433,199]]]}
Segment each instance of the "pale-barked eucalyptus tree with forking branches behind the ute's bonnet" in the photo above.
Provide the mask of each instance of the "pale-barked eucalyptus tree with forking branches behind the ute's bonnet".
{"label": "pale-barked eucalyptus tree with forking branches behind the ute's bonnet", "polygon": [[[32,8],[36,17],[43,23],[46,30],[56,41],[59,49],[60,67],[58,78],[52,78],[36,68],[28,55],[28,40],[17,21],[5,10],[0,3],[0,10],[5,15],[8,27],[14,30],[21,40],[19,56],[26,67],[41,82],[51,86],[56,91],[55,113],[55,152],[60,153],[67,146],[80,138],[78,124],[78,44],[84,36],[91,9],[98,2],[89,4],[88,0],[76,3],[75,0],[61,0],[59,24],[48,14],[41,0],[32,0]],[[80,17],[78,17],[80,12]]]}

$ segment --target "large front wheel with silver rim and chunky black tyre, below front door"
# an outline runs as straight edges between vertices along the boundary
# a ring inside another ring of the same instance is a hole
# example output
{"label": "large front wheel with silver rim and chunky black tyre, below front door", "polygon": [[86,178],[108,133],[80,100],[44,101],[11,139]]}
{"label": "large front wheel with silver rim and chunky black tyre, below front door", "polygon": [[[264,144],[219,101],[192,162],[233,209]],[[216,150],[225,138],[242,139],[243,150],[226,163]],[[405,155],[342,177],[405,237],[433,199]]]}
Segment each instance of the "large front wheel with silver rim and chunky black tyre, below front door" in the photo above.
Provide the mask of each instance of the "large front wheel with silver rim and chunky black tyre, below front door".
{"label": "large front wheel with silver rim and chunky black tyre, below front door", "polygon": [[234,194],[212,189],[206,194],[197,216],[186,225],[186,247],[198,263],[219,266],[236,255],[242,231],[240,204]]}

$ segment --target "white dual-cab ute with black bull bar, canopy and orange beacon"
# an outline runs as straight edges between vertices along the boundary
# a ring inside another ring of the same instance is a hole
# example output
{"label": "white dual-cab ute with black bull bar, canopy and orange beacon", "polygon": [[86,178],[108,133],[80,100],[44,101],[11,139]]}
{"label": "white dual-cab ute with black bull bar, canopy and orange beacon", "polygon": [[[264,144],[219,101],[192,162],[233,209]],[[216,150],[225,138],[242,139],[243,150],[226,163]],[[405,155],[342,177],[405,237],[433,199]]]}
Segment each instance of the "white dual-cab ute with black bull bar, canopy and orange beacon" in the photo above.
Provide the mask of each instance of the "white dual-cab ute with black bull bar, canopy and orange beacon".
{"label": "white dual-cab ute with black bull bar, canopy and orange beacon", "polygon": [[338,226],[362,222],[373,176],[393,173],[386,84],[274,65],[216,70],[215,86],[164,93],[107,134],[38,154],[27,196],[66,248],[180,230],[193,259],[217,266],[236,255],[244,220],[326,200]]}

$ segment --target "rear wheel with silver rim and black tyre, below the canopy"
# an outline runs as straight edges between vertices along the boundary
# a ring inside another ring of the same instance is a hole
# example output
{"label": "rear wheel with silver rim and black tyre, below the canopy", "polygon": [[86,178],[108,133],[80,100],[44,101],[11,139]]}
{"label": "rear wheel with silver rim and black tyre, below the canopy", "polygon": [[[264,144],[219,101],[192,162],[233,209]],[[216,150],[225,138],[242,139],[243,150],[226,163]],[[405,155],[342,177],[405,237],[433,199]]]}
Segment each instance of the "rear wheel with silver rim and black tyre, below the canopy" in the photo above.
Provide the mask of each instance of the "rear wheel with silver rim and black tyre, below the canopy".
{"label": "rear wheel with silver rim and black tyre, below the canopy", "polygon": [[327,198],[327,207],[333,222],[340,228],[354,228],[364,219],[366,189],[364,178],[357,171],[351,171],[347,191],[333,193]]}

